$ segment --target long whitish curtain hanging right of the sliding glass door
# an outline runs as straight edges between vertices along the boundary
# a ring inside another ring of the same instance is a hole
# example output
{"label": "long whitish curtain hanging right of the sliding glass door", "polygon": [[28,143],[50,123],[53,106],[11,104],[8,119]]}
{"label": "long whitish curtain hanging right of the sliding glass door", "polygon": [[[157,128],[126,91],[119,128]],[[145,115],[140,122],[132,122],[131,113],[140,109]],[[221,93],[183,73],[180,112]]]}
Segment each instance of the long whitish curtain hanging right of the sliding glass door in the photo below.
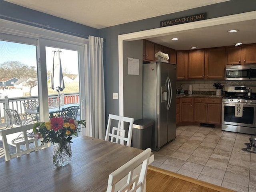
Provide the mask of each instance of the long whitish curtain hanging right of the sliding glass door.
{"label": "long whitish curtain hanging right of the sliding glass door", "polygon": [[[86,91],[86,126],[90,136],[105,138],[105,91],[103,71],[103,38],[89,36],[88,91]],[[89,120],[87,120],[89,118]]]}

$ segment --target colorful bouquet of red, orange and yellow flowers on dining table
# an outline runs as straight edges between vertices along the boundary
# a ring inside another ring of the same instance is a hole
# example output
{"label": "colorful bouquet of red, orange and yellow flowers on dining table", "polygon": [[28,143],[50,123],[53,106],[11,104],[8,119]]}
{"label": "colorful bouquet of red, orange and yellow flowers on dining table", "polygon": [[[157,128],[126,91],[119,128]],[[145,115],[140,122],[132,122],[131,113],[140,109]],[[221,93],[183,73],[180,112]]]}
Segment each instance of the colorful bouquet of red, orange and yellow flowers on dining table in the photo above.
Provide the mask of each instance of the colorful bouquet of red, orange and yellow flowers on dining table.
{"label": "colorful bouquet of red, orange and yellow flowers on dining table", "polygon": [[81,124],[86,127],[85,120],[74,120],[72,118],[53,117],[48,122],[37,122],[34,124],[34,137],[41,139],[42,144],[51,142],[60,145],[72,143],[72,135],[77,136]]}

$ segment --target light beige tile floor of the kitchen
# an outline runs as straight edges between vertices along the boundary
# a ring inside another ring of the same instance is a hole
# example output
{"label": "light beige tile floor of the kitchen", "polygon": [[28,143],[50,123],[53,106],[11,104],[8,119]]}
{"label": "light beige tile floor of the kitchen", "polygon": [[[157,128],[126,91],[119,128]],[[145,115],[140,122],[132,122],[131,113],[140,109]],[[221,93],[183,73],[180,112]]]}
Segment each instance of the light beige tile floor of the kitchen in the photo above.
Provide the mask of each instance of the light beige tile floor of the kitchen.
{"label": "light beige tile floor of the kitchen", "polygon": [[238,192],[256,192],[256,153],[246,151],[250,137],[256,135],[179,126],[175,140],[153,151],[150,165]]}

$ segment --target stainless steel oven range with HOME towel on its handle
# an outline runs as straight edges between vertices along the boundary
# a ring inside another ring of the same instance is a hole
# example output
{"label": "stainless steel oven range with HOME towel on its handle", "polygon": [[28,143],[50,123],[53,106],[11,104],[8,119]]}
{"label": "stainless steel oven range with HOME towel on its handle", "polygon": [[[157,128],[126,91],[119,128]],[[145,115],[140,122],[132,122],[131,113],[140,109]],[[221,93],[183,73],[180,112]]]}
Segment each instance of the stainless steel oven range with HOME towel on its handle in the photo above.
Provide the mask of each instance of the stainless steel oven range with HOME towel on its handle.
{"label": "stainless steel oven range with HOME towel on its handle", "polygon": [[[256,92],[256,87],[252,87]],[[228,87],[222,98],[222,130],[256,134],[256,97],[247,87]]]}

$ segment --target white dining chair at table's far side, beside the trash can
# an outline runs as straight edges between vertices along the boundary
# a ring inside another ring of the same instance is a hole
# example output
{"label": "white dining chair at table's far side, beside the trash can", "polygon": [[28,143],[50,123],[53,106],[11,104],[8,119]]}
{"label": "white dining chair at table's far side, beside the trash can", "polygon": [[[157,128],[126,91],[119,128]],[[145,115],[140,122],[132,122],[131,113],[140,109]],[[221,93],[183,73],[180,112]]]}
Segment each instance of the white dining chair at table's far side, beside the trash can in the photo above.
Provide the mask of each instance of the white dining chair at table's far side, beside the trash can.
{"label": "white dining chair at table's far side, beside the trash can", "polygon": [[[124,122],[129,124],[128,133],[124,128]],[[126,142],[126,146],[131,146],[133,122],[134,118],[109,114],[105,140],[123,145]],[[117,127],[116,124],[118,124]]]}

